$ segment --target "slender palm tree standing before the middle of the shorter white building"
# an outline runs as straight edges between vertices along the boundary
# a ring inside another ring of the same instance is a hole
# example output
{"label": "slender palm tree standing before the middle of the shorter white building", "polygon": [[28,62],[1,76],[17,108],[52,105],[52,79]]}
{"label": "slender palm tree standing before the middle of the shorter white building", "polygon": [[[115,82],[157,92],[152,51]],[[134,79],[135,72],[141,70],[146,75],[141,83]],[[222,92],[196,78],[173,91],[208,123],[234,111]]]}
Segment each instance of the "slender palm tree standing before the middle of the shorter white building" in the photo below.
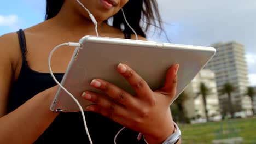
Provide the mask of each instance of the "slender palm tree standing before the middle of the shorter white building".
{"label": "slender palm tree standing before the middle of the shorter white building", "polygon": [[201,82],[200,83],[200,91],[197,94],[197,96],[202,95],[203,99],[203,108],[205,109],[205,116],[206,116],[206,121],[209,121],[209,116],[208,116],[208,110],[207,110],[207,103],[206,103],[206,97],[209,94],[210,90],[205,86],[205,83]]}

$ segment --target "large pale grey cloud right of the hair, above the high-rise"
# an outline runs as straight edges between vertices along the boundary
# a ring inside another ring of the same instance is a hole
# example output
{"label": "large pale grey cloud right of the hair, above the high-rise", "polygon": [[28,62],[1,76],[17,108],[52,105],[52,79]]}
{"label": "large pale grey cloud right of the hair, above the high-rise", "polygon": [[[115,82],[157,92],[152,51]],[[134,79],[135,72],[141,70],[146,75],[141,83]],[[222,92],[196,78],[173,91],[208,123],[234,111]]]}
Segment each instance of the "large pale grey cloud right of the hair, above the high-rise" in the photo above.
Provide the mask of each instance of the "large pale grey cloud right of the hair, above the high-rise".
{"label": "large pale grey cloud right of the hair, above the high-rise", "polygon": [[[210,46],[237,41],[256,53],[255,0],[178,1],[158,0],[163,21],[173,43]],[[253,17],[254,16],[254,17]]]}

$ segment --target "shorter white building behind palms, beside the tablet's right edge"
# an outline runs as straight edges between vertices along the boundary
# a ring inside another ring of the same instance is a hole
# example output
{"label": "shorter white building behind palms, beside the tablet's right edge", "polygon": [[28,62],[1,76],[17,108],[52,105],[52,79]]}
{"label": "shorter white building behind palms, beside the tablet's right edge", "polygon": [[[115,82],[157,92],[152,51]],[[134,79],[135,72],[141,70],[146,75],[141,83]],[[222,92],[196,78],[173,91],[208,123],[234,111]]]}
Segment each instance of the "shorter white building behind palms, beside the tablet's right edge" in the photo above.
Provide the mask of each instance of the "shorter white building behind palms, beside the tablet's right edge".
{"label": "shorter white building behind palms, beside the tablet's right edge", "polygon": [[185,93],[190,95],[190,99],[184,103],[187,117],[206,118],[203,98],[200,94],[201,83],[204,83],[209,90],[206,95],[208,117],[213,121],[219,120],[221,117],[215,75],[213,71],[208,69],[201,70],[185,89]]}

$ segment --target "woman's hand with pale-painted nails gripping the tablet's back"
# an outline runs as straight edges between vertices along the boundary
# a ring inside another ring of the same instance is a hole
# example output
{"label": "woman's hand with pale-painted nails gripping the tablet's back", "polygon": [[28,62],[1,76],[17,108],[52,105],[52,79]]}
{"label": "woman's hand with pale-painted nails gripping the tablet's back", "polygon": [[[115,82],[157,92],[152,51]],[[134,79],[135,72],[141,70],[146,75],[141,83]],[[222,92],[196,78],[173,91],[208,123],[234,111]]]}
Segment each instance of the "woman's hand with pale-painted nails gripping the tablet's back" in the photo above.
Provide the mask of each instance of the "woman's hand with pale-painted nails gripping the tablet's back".
{"label": "woman's hand with pale-painted nails gripping the tablet's back", "polygon": [[170,104],[176,94],[178,64],[167,71],[164,87],[152,91],[128,65],[119,64],[118,71],[130,83],[136,95],[131,95],[101,79],[94,79],[91,85],[105,92],[109,97],[85,91],[82,97],[95,105],[86,110],[101,113],[113,121],[143,133],[149,143],[161,143],[174,131]]}

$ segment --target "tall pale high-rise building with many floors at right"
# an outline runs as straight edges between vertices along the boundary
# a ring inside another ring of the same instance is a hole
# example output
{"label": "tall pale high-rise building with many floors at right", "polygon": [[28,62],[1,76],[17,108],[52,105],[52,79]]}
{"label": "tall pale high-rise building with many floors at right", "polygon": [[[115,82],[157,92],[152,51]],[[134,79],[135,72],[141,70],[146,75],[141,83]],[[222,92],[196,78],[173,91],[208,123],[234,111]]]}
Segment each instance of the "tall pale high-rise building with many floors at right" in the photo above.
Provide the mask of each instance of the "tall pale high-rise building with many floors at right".
{"label": "tall pale high-rise building with many floors at right", "polygon": [[216,48],[217,52],[205,68],[211,69],[216,75],[221,112],[226,113],[229,109],[227,95],[221,92],[225,83],[235,87],[235,91],[231,93],[234,110],[240,112],[249,109],[247,105],[249,102],[243,99],[249,86],[245,47],[235,41],[216,43],[212,47]]}

